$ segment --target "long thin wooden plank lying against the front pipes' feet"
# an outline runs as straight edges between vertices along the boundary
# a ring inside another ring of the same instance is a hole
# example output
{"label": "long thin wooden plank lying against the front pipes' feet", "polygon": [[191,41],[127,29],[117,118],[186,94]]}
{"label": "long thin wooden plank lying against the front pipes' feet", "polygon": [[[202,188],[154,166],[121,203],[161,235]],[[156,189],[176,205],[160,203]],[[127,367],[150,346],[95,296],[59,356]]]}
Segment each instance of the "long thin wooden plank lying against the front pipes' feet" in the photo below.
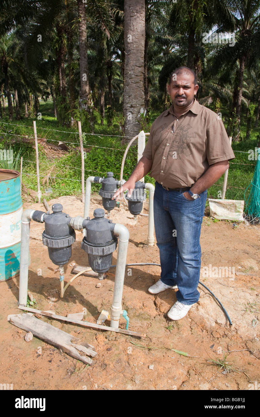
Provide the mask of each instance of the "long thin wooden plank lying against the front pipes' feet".
{"label": "long thin wooden plank lying against the front pipes' feet", "polygon": [[25,310],[25,311],[30,311],[31,313],[38,313],[38,314],[41,314],[42,316],[50,317],[52,319],[61,320],[63,322],[79,324],[80,326],[83,326],[83,327],[93,327],[93,329],[102,329],[102,330],[116,332],[116,333],[129,334],[130,336],[146,337],[146,334],[131,332],[131,330],[115,329],[114,327],[103,326],[102,324],[83,322],[82,320],[72,320],[72,319],[68,319],[68,317],[59,316],[58,314],[46,313],[45,311],[32,309],[30,307],[18,306],[18,309]]}

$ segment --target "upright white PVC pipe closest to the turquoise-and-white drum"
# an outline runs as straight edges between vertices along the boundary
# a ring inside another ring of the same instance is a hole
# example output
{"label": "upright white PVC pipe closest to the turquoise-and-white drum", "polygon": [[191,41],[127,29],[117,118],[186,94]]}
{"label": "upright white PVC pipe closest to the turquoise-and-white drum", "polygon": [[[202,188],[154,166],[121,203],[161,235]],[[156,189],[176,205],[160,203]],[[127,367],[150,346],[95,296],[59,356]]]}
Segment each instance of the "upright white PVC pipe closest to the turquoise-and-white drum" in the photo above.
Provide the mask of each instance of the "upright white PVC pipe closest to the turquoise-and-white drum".
{"label": "upright white PVC pipe closest to the turquoise-and-white drum", "polygon": [[30,221],[35,210],[24,210],[21,224],[21,256],[20,256],[20,280],[19,280],[19,305],[26,306],[28,293],[28,268],[29,268],[29,241]]}

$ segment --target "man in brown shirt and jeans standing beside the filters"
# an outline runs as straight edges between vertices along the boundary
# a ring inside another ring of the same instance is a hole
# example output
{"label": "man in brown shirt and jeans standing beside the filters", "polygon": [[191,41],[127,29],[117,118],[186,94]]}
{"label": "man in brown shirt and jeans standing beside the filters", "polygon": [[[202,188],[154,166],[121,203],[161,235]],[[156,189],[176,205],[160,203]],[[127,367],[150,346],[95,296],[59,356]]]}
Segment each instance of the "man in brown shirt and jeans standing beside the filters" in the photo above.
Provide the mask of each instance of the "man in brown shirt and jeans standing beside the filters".
{"label": "man in brown shirt and jeans standing beside the filters", "polygon": [[129,179],[116,191],[131,194],[135,182],[151,171],[156,180],[154,227],[161,278],[148,291],[178,288],[169,319],[184,317],[199,299],[199,244],[207,188],[235,158],[222,120],[194,98],[199,86],[194,72],[177,68],[167,85],[172,106],[151,126],[143,156]]}

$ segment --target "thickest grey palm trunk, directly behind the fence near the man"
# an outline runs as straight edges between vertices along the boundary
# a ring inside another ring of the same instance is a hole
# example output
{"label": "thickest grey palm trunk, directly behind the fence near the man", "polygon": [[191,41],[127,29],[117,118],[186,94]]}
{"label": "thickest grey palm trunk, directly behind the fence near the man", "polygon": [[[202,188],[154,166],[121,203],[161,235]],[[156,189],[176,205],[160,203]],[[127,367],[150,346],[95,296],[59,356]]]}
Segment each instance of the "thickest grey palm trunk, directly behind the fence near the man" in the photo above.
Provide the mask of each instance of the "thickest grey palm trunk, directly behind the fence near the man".
{"label": "thickest grey palm trunk, directly behind the fence near the man", "polygon": [[131,138],[139,133],[138,116],[144,112],[145,0],[125,0],[124,18],[124,132]]}

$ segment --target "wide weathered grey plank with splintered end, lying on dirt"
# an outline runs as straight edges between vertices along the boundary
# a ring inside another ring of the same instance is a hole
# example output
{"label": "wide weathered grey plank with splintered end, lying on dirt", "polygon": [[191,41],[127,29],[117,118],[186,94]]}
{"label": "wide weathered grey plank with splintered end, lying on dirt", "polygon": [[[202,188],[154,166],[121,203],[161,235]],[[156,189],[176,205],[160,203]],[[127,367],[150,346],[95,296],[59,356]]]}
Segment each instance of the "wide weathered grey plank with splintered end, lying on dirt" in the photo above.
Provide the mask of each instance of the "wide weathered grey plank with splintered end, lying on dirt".
{"label": "wide weathered grey plank with splintered end, lying on dirt", "polygon": [[63,352],[68,353],[83,363],[91,365],[93,361],[87,356],[81,356],[79,351],[93,357],[97,354],[95,351],[87,349],[83,345],[76,344],[75,342],[79,341],[77,337],[73,337],[71,334],[63,332],[63,330],[57,329],[51,324],[36,319],[34,316],[29,316],[26,313],[11,314],[8,316],[8,321],[26,332],[32,332],[33,336],[62,349]]}

